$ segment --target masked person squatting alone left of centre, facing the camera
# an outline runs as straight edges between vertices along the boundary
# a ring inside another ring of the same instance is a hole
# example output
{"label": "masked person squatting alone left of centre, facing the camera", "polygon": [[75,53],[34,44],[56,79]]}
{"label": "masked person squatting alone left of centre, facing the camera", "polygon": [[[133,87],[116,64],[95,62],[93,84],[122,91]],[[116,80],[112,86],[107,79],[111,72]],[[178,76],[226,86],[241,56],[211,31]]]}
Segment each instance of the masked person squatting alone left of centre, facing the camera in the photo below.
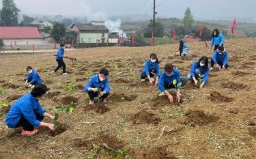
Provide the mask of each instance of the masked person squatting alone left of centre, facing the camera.
{"label": "masked person squatting alone left of centre, facing the camera", "polygon": [[[94,104],[94,98],[100,97],[100,102],[106,102],[109,96],[109,70],[101,68],[99,74],[91,76],[87,85],[85,85],[85,92],[89,95],[89,105]],[[99,89],[99,90],[98,90]]]}

